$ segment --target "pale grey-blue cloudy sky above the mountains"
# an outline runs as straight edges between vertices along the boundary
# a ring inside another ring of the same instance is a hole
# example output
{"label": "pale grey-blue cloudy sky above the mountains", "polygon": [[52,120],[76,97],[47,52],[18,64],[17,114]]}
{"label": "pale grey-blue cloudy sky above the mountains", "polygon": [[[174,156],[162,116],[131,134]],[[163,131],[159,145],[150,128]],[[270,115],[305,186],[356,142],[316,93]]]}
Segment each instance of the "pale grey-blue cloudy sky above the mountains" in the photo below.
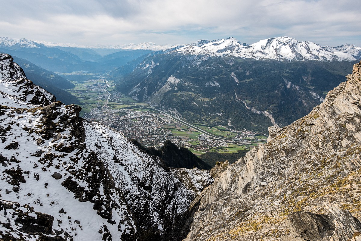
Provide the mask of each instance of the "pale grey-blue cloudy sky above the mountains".
{"label": "pale grey-blue cloudy sky above the mountains", "polygon": [[351,0],[0,0],[0,36],[78,45],[289,36],[361,46]]}

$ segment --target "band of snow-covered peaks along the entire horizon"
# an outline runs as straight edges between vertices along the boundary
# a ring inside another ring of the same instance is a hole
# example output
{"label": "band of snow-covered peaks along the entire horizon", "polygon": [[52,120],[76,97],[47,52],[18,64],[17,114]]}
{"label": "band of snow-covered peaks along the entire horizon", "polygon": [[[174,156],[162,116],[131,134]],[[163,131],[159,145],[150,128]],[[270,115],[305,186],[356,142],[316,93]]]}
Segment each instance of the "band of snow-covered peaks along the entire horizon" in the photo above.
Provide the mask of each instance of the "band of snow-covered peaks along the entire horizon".
{"label": "band of snow-covered peaks along the entire horizon", "polygon": [[77,46],[75,44],[31,41],[25,38],[0,38],[0,47],[6,48],[39,48],[67,47],[83,49],[114,49],[114,50],[151,50],[166,51],[192,55],[235,56],[252,59],[289,59],[289,60],[321,60],[321,61],[355,61],[361,58],[361,47],[344,44],[337,47],[320,46],[309,41],[299,41],[287,36],[260,40],[257,43],[241,43],[230,37],[221,40],[198,40],[184,45],[156,45],[155,43]]}

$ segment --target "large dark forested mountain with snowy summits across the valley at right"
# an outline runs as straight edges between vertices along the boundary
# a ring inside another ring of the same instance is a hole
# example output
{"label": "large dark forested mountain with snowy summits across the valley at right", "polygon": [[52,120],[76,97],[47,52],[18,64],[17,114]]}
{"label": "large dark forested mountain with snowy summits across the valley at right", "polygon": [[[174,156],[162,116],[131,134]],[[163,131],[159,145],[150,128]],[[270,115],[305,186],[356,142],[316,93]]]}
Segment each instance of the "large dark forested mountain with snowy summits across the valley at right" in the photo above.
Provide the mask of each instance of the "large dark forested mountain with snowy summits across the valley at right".
{"label": "large dark forested mountain with snowy summits across the valley at right", "polygon": [[[351,54],[349,54],[351,53]],[[360,58],[356,46],[278,37],[255,44],[201,40],[114,70],[118,90],[200,125],[268,133],[322,103]],[[350,63],[351,62],[351,63]]]}

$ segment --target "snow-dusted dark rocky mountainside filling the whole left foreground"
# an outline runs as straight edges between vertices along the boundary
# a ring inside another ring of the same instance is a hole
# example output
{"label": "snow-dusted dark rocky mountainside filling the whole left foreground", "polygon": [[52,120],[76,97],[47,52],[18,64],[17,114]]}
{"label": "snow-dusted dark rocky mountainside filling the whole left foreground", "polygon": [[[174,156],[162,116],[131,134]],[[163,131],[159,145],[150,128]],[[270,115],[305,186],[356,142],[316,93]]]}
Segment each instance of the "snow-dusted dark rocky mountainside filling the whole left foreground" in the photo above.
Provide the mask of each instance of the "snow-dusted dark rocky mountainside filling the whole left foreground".
{"label": "snow-dusted dark rocky mountainside filling the whole left foreground", "polygon": [[0,54],[0,236],[5,240],[157,239],[212,180],[172,169]]}

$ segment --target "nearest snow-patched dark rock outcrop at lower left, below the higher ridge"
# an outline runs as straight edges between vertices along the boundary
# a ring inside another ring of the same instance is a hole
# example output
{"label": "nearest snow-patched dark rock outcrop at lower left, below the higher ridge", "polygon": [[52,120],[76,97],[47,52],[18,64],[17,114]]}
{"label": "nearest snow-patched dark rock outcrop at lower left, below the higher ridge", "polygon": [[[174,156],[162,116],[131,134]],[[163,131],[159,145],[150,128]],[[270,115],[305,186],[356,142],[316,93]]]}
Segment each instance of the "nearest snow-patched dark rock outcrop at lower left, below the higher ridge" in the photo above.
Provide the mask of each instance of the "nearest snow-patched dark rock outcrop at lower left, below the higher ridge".
{"label": "nearest snow-patched dark rock outcrop at lower left, below the higher ridge", "polygon": [[104,163],[84,145],[79,107],[54,102],[29,109],[1,106],[1,111],[1,199],[54,220],[48,233],[28,232],[25,225],[11,225],[12,215],[4,212],[2,235],[21,240],[136,237],[122,194]]}

